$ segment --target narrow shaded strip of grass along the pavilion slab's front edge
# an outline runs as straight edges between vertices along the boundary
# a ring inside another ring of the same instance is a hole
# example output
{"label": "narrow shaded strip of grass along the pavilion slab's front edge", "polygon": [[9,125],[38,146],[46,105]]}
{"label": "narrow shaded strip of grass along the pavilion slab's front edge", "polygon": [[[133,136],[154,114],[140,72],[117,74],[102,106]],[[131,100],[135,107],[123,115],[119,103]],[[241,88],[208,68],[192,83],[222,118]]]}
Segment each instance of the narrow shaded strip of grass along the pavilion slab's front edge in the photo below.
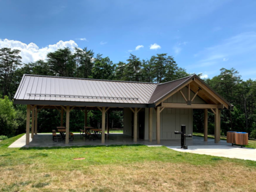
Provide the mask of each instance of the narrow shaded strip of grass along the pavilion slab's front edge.
{"label": "narrow shaded strip of grass along the pavilion slab's front edge", "polygon": [[19,150],[51,150],[51,149],[74,149],[74,148],[98,148],[98,147],[141,147],[146,146],[142,144],[130,144],[130,145],[84,145],[84,146],[67,146],[67,147],[22,147],[19,148]]}

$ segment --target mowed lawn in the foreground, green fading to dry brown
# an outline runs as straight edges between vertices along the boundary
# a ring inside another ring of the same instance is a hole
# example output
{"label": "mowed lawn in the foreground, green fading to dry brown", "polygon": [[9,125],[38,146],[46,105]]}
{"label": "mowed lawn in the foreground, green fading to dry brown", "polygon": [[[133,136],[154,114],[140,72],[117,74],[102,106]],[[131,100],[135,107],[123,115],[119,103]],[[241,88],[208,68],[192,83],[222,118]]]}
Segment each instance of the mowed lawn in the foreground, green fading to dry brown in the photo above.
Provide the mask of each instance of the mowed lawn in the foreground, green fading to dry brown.
{"label": "mowed lawn in the foreground, green fading to dry brown", "polygon": [[7,148],[19,137],[0,143],[2,191],[256,190],[255,161],[144,145]]}

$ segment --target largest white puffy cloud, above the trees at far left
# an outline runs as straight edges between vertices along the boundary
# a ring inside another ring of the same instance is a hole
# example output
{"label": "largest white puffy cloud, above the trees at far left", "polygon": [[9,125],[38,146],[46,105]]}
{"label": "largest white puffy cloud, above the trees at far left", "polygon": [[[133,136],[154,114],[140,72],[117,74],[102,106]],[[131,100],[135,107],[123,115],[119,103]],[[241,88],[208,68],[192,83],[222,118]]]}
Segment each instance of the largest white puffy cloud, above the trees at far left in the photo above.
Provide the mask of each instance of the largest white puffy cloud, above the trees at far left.
{"label": "largest white puffy cloud, above the trees at far left", "polygon": [[22,62],[28,63],[37,61],[39,59],[45,60],[47,53],[56,51],[60,48],[68,47],[72,52],[75,52],[75,47],[78,47],[78,45],[75,43],[75,41],[69,40],[59,41],[56,44],[39,48],[35,43],[26,44],[16,40],[0,39],[0,48],[3,47],[19,49],[20,56],[22,56]]}

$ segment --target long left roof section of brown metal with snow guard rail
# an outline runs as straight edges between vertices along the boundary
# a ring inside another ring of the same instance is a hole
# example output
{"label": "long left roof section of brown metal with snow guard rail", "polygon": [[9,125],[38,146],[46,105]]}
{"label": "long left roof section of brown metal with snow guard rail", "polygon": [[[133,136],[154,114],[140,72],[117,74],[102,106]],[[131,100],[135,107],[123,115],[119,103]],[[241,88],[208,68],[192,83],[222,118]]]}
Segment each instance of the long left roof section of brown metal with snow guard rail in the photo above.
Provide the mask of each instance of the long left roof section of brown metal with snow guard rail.
{"label": "long left roof section of brown metal with snow guard rail", "polygon": [[24,74],[14,99],[145,104],[157,85]]}

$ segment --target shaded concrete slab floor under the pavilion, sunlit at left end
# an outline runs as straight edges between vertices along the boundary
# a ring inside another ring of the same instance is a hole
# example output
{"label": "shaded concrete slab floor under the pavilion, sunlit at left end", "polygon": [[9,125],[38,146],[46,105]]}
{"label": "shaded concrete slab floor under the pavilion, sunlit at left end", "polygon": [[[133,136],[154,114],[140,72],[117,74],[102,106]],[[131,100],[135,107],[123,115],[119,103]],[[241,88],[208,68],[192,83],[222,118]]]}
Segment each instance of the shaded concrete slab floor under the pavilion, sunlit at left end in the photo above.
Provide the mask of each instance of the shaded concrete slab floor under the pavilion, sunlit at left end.
{"label": "shaded concrete slab floor under the pavilion, sunlit at left end", "polygon": [[[84,145],[127,145],[127,144],[143,144],[150,146],[158,146],[156,140],[149,142],[148,140],[138,139],[137,142],[133,141],[133,137],[122,134],[122,133],[110,133],[108,134],[108,139],[105,143],[101,143],[101,139],[88,140],[82,137],[79,133],[74,134],[75,139],[69,141],[69,144],[65,144],[65,141],[53,141],[51,133],[39,133],[31,139],[30,144],[26,145],[26,135],[20,137],[10,148],[20,148],[20,147],[66,147],[66,146],[84,146]],[[214,143],[214,139],[209,139],[208,142],[204,142],[203,137],[194,136],[193,139],[187,139],[187,145],[222,145],[226,144],[226,141],[220,141],[220,143]],[[161,140],[160,145],[165,146],[178,146],[180,145],[180,140]]]}

